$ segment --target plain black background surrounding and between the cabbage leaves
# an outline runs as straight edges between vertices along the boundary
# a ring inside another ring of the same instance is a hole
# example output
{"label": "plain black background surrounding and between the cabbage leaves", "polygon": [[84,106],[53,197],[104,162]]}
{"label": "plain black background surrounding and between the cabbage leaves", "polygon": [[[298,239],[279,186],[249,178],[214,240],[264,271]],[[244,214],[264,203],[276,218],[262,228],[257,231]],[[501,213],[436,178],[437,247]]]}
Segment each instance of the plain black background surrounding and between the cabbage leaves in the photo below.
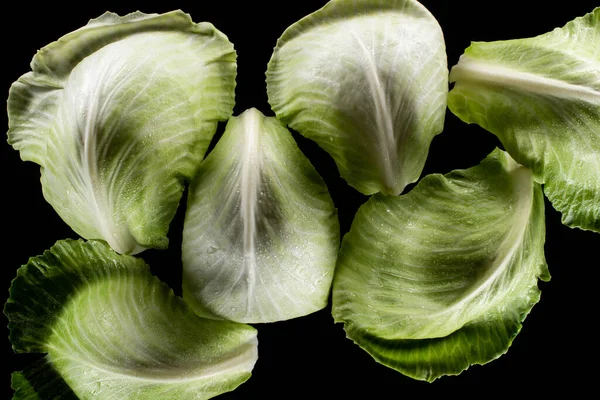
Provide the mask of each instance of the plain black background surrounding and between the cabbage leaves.
{"label": "plain black background surrounding and between the cabbage leaves", "polygon": [[[120,15],[140,10],[162,13],[182,9],[194,21],[210,21],[224,32],[238,53],[236,106],[238,115],[256,107],[273,115],[267,103],[267,62],[277,38],[286,27],[326,3],[321,1],[163,1],[80,2],[77,6],[47,2],[43,6],[14,2],[2,6],[2,86],[8,96],[10,84],[29,71],[35,52],[71,32],[106,10]],[[471,41],[493,41],[534,36],[563,26],[591,11],[595,1],[573,0],[549,5],[539,0],[435,1],[422,3],[438,19],[444,31],[449,67]],[[524,8],[526,5],[527,8]],[[598,44],[596,44],[598,45]],[[5,113],[0,126],[8,129]],[[215,136],[215,141],[224,125]],[[300,148],[324,177],[338,207],[341,233],[346,233],[357,208],[367,197],[349,187],[331,158],[314,143],[294,134]],[[444,132],[431,145],[423,176],[468,168],[483,159],[497,139],[483,129],[466,125],[450,112]],[[1,301],[8,298],[10,281],[17,268],[31,256],[41,254],[57,240],[77,235],[45,202],[39,183],[39,167],[20,160],[17,151],[0,143],[3,231],[0,264],[3,268]],[[412,185],[407,188],[407,191]],[[149,250],[141,256],[152,270],[180,292],[180,243],[183,208],[171,225],[171,246],[166,251]],[[485,366],[472,366],[456,377],[433,384],[414,381],[377,364],[366,352],[345,338],[342,325],[334,324],[330,306],[291,321],[256,325],[259,359],[253,376],[223,399],[345,397],[374,398],[427,395],[440,386],[483,384],[518,390],[515,385],[536,388],[568,385],[582,388],[593,384],[597,372],[598,331],[596,298],[597,248],[600,236],[570,229],[560,223],[560,214],[546,201],[546,259],[552,279],[540,282],[542,299],[525,320],[521,333],[508,353]],[[22,369],[31,359],[12,353],[6,317],[2,316],[3,364]],[[596,364],[596,367],[590,365]],[[9,371],[2,373],[2,398],[10,398]],[[408,390],[408,392],[407,392]],[[444,394],[452,392],[444,391]],[[464,394],[458,392],[457,394]],[[481,393],[481,395],[485,395]],[[157,399],[158,400],[158,399]]]}

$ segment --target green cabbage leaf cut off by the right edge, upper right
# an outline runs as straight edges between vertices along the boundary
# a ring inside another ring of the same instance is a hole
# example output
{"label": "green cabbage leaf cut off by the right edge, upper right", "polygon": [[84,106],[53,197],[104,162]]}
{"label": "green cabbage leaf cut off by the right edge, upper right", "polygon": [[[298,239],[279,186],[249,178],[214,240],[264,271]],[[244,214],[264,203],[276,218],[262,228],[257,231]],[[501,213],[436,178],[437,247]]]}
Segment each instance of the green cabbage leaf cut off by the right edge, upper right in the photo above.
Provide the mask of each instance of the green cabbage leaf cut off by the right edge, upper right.
{"label": "green cabbage leaf cut off by the right edge, upper right", "polygon": [[600,8],[528,39],[473,43],[450,110],[533,170],[565,225],[600,232]]}

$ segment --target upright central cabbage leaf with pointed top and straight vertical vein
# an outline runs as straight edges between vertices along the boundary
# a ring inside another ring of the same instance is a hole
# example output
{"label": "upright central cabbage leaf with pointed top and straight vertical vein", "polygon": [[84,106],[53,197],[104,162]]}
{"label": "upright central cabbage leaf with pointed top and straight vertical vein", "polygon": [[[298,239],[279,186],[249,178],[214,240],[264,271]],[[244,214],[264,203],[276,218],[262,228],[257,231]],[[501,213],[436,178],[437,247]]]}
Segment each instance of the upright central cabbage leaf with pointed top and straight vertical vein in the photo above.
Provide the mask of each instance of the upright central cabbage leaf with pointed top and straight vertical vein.
{"label": "upright central cabbage leaf with pointed top and straight vertical vein", "polygon": [[246,110],[190,185],[183,298],[200,315],[272,322],[327,305],[339,248],[323,179],[273,117]]}

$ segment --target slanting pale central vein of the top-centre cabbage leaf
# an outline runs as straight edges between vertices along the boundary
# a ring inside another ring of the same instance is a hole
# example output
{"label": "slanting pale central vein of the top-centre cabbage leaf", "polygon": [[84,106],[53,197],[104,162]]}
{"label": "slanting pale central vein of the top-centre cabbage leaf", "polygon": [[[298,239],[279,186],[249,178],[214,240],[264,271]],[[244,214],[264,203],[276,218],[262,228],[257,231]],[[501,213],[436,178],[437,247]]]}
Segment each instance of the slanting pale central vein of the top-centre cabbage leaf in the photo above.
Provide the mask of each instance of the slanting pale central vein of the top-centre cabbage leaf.
{"label": "slanting pale central vein of the top-centre cabbage leaf", "polygon": [[377,70],[377,65],[375,65],[374,55],[367,49],[356,32],[352,32],[352,36],[363,53],[363,59],[367,67],[366,76],[369,88],[373,94],[373,102],[375,103],[377,139],[379,141],[381,152],[383,153],[384,182],[387,187],[393,188],[395,186],[393,158],[396,154],[396,139],[394,136],[394,124],[391,110],[386,101],[385,88],[379,79],[379,72]]}

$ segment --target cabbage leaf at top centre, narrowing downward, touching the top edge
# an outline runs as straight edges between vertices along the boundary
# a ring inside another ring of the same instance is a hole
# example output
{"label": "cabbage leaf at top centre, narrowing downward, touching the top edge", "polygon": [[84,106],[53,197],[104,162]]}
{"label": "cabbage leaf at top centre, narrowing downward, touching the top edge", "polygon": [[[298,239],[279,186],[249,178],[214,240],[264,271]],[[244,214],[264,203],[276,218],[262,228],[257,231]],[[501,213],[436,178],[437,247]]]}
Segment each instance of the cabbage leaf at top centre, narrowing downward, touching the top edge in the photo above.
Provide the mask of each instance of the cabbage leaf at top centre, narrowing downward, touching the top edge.
{"label": "cabbage leaf at top centre, narrowing downward, touching the top edge", "polygon": [[267,69],[277,118],[314,140],[364,194],[400,194],[442,131],[442,30],[414,0],[332,0],[290,26]]}

